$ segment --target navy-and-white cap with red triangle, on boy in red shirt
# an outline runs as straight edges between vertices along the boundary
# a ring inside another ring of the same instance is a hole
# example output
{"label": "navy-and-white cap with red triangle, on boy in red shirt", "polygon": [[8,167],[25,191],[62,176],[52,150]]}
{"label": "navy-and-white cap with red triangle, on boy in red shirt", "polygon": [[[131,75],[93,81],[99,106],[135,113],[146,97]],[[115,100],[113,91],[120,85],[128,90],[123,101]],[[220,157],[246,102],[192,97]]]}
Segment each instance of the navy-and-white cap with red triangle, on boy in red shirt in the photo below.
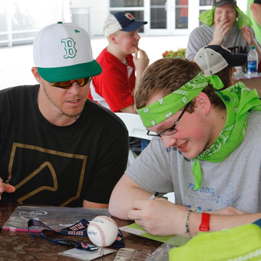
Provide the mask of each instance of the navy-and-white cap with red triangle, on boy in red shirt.
{"label": "navy-and-white cap with red triangle, on boy in red shirt", "polygon": [[117,12],[108,15],[104,21],[103,34],[107,37],[117,31],[133,32],[142,25],[147,24],[146,21],[137,21],[134,16],[126,12]]}

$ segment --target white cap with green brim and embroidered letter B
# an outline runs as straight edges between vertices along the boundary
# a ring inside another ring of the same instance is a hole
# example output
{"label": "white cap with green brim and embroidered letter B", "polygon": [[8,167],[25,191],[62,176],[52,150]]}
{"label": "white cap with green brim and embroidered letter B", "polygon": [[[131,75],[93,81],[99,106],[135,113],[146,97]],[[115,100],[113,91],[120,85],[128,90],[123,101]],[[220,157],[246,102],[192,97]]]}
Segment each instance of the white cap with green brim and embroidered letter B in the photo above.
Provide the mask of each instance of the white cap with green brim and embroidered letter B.
{"label": "white cap with green brim and embroidered letter B", "polygon": [[96,76],[102,67],[93,59],[91,39],[82,27],[57,22],[38,32],[33,43],[34,64],[49,82]]}

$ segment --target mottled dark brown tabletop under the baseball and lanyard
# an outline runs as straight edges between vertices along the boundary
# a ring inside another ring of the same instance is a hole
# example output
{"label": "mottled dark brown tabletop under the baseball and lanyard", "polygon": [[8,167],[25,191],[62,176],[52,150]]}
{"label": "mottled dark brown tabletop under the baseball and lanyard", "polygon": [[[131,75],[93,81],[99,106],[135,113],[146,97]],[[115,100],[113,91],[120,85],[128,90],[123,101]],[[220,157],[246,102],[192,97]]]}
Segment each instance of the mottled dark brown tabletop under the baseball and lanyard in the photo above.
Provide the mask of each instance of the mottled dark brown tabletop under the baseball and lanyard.
{"label": "mottled dark brown tabletop under the baseball and lanyard", "polygon": [[[19,206],[17,204],[1,204],[0,203],[0,226],[3,227],[4,223],[9,219],[15,208]],[[133,223],[132,221],[122,220],[112,217],[117,223],[118,227],[123,227]],[[124,236],[125,246],[135,249],[148,249],[152,252],[162,245],[161,242],[147,239],[133,234],[128,234],[122,231]],[[57,238],[57,235],[55,235]],[[67,238],[76,240],[74,236],[64,236],[61,238]],[[88,237],[82,237],[83,242],[92,244]],[[62,255],[58,255],[58,252],[69,250],[72,247],[59,246],[51,243],[45,239],[32,236],[29,232],[10,232],[9,230],[2,230],[0,233],[0,261],[2,260],[74,260]],[[109,247],[115,250],[118,248]],[[96,258],[94,260],[109,261],[114,260],[117,252],[108,254],[102,258]],[[78,259],[79,260],[79,259]]]}

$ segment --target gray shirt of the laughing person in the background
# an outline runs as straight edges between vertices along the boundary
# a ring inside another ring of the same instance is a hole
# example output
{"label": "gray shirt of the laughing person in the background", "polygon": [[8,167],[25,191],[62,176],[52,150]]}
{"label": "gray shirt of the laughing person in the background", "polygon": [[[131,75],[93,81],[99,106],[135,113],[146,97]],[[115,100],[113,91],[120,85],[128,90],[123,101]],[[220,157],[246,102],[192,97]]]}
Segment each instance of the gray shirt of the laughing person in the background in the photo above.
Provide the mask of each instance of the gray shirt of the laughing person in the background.
{"label": "gray shirt of the laughing person in the background", "polygon": [[[250,27],[254,35],[254,30]],[[194,59],[196,53],[200,48],[209,45],[212,41],[215,27],[213,25],[201,25],[196,27],[188,38],[188,44],[186,49],[186,58]],[[258,40],[256,39],[257,43]],[[224,47],[228,48],[232,53],[247,54],[250,46],[243,37],[242,30],[239,30],[238,23],[234,23],[231,30],[226,34],[223,42]]]}

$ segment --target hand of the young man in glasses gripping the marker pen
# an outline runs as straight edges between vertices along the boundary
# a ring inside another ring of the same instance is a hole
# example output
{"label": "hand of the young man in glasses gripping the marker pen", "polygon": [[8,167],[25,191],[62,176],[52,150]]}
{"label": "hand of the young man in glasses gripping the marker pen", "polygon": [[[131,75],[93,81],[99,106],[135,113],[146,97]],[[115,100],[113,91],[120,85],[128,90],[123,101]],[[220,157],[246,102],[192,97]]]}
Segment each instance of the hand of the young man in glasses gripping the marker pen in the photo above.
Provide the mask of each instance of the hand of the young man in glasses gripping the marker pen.
{"label": "hand of the young man in glasses gripping the marker pen", "polygon": [[172,204],[166,199],[132,202],[128,218],[134,220],[152,235],[174,235],[185,233],[188,207]]}

